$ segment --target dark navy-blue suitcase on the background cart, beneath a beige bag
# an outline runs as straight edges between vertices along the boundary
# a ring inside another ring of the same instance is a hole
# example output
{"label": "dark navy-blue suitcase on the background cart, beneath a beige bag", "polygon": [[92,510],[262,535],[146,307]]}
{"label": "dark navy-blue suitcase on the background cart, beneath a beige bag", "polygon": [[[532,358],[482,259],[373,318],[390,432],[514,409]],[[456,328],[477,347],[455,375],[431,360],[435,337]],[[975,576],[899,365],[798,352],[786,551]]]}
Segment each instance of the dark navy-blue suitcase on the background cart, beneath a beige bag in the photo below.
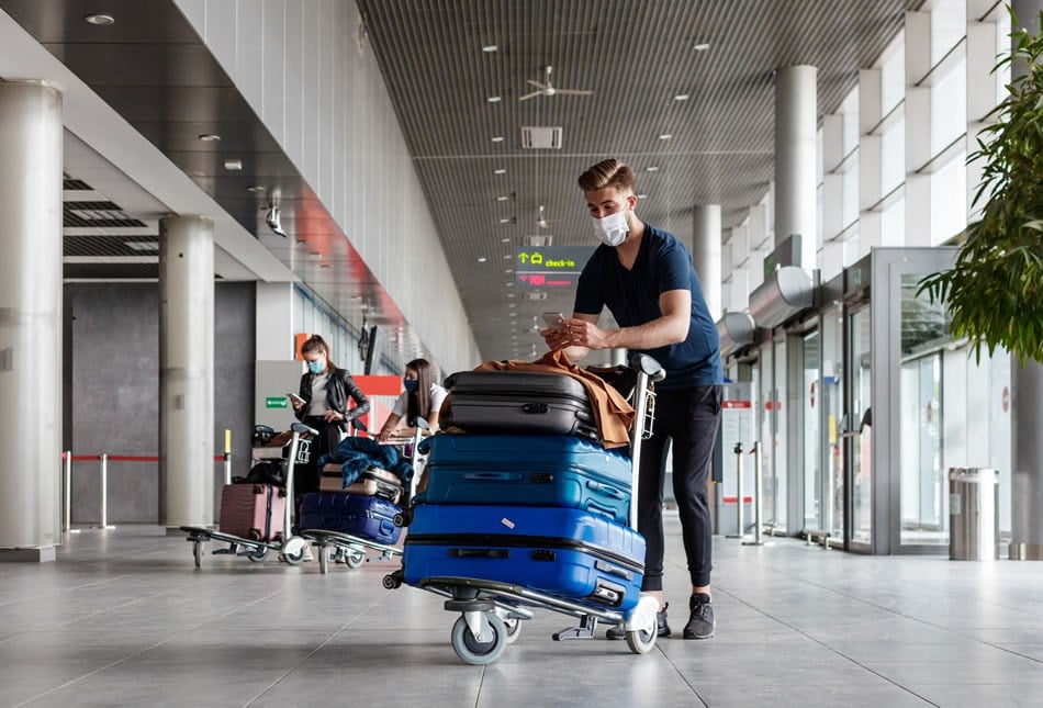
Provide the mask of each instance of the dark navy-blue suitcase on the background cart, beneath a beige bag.
{"label": "dark navy-blue suitcase on the background cart, beneath a beige bag", "polygon": [[304,495],[298,527],[361,536],[378,543],[395,543],[402,529],[395,526],[394,517],[401,510],[379,496],[313,492]]}

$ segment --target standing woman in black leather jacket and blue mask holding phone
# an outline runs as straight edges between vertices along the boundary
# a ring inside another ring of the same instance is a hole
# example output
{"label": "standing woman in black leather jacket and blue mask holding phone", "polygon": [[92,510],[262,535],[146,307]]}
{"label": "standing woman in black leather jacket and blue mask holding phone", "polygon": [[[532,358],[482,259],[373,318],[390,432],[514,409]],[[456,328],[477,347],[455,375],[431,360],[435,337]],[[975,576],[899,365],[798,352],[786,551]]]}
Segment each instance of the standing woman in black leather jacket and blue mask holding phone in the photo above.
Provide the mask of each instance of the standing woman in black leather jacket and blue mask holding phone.
{"label": "standing woman in black leather jacket and blue mask holding phone", "polygon": [[[329,345],[318,335],[301,345],[301,356],[307,363],[307,372],[301,377],[301,400],[290,401],[298,419],[318,430],[318,440],[312,443],[312,464],[296,468],[299,473],[293,479],[296,494],[306,494],[318,488],[315,461],[337,449],[351,420],[369,411],[369,400],[355,385],[351,374],[330,361]],[[349,398],[355,401],[350,411]]]}

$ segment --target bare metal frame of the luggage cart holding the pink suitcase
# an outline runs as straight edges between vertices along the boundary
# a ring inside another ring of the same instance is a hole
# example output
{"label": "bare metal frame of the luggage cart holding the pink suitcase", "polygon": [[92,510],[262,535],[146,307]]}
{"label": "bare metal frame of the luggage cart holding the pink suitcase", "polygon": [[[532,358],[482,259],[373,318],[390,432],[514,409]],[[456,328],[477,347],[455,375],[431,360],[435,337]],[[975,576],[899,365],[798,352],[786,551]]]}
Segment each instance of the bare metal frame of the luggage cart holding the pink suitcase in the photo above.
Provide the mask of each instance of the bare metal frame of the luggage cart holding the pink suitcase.
{"label": "bare metal frame of the luggage cart holding the pink suitcase", "polygon": [[[287,467],[287,506],[282,519],[282,535],[271,541],[261,541],[258,539],[243,538],[225,533],[217,529],[205,528],[202,526],[182,526],[182,531],[188,533],[186,539],[192,543],[192,557],[195,559],[195,567],[202,565],[203,543],[206,541],[221,541],[227,543],[227,548],[218,548],[211,551],[213,555],[243,555],[255,563],[260,563],[268,558],[271,551],[280,553],[280,560],[288,565],[300,565],[304,561],[304,552],[307,549],[307,542],[300,536],[293,535],[291,526],[291,514],[293,512],[293,469],[298,464],[306,464],[310,459],[311,446],[301,445],[301,436],[307,435],[312,438],[318,436],[318,431],[303,423],[294,423],[290,426],[293,437],[290,439],[290,452],[284,458]],[[231,480],[225,480],[231,482]]]}

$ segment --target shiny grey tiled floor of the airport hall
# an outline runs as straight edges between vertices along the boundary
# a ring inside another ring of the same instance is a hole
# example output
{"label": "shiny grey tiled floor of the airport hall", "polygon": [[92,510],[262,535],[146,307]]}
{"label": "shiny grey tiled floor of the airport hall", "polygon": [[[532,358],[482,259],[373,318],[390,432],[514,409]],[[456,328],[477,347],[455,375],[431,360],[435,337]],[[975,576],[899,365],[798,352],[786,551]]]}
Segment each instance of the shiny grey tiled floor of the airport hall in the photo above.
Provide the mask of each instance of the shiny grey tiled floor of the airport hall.
{"label": "shiny grey tiled floor of the airport hall", "polygon": [[[670,521],[671,623],[686,580]],[[391,563],[205,558],[157,529],[70,537],[0,564],[0,705],[1041,706],[1043,564],[866,558],[717,539],[718,634],[649,655],[548,611],[490,666],[460,662],[441,598]]]}

